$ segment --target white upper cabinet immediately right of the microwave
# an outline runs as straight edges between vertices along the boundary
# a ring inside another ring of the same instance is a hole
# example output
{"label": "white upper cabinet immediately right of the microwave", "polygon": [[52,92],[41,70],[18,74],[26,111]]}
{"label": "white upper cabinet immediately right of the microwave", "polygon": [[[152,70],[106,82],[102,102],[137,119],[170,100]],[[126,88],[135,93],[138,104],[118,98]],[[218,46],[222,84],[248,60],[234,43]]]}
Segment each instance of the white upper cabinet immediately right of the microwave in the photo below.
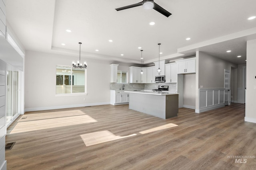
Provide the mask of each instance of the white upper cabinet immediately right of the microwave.
{"label": "white upper cabinet immediately right of the microwave", "polygon": [[177,63],[165,64],[165,82],[176,83],[178,77]]}

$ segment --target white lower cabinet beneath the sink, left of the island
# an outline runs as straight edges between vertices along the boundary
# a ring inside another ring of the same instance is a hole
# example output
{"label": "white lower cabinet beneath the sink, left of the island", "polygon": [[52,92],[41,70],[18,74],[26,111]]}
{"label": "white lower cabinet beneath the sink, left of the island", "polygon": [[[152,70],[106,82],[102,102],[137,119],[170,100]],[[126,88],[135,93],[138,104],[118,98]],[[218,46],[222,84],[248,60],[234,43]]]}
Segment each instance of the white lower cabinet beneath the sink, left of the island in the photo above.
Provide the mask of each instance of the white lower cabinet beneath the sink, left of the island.
{"label": "white lower cabinet beneath the sink, left of the island", "polygon": [[110,90],[110,104],[127,104],[129,102],[129,93],[123,91]]}

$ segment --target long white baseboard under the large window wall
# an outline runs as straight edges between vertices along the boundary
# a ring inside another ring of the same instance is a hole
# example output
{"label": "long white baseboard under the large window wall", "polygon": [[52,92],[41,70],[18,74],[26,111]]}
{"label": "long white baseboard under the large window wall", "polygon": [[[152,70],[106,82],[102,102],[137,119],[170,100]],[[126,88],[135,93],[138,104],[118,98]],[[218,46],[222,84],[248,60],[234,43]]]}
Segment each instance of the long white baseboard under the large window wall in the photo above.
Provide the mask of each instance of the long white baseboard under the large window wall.
{"label": "long white baseboard under the large window wall", "polygon": [[110,102],[75,104],[75,105],[65,105],[65,106],[51,106],[51,107],[25,108],[25,112],[27,112],[27,111],[40,111],[40,110],[52,110],[52,109],[66,109],[66,108],[72,108],[72,107],[98,106],[98,105],[106,105],[106,104],[110,104]]}

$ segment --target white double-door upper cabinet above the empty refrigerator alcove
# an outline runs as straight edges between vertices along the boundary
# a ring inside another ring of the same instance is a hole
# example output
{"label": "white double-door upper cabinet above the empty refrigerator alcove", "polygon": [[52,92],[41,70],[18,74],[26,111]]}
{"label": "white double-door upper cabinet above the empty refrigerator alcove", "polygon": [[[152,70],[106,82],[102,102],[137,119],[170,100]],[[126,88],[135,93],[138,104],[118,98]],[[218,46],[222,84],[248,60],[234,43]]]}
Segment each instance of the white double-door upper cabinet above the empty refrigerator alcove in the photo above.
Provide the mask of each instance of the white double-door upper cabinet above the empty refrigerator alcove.
{"label": "white double-door upper cabinet above the empty refrigerator alcove", "polygon": [[178,64],[178,74],[195,73],[196,72],[196,58],[184,59],[176,61]]}

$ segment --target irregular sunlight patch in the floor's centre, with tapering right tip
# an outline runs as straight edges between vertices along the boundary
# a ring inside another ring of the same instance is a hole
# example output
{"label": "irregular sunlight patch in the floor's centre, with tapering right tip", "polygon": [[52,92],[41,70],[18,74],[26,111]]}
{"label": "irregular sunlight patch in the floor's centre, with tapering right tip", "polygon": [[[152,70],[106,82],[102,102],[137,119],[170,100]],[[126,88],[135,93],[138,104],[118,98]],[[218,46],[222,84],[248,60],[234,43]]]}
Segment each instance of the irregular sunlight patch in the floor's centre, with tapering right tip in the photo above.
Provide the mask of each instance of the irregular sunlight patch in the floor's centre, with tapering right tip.
{"label": "irregular sunlight patch in the floor's centre, with tapering right tip", "polygon": [[99,143],[105,143],[105,142],[114,141],[117,139],[131,137],[134,135],[136,135],[136,134],[132,134],[132,135],[128,135],[128,136],[116,136],[113,133],[111,133],[110,131],[99,131],[99,132],[93,132],[93,133],[87,133],[84,135],[80,135],[80,137],[84,141],[85,145],[88,147],[88,146],[96,145]]}

